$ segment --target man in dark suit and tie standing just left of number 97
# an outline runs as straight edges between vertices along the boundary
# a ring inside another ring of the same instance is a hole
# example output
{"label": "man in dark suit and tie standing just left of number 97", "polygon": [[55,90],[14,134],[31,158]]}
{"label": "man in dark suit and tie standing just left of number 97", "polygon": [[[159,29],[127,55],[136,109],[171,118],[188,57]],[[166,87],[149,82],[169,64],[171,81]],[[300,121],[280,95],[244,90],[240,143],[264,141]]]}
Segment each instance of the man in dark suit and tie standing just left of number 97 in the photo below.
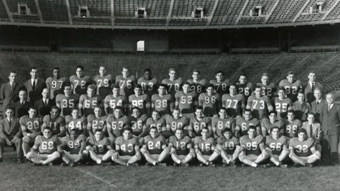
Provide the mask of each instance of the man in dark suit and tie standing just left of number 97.
{"label": "man in dark suit and tie standing just left of number 97", "polygon": [[42,89],[46,88],[46,83],[42,78],[38,76],[38,69],[36,67],[31,68],[31,79],[24,83],[27,90],[27,101],[34,103],[38,99],[42,98]]}

